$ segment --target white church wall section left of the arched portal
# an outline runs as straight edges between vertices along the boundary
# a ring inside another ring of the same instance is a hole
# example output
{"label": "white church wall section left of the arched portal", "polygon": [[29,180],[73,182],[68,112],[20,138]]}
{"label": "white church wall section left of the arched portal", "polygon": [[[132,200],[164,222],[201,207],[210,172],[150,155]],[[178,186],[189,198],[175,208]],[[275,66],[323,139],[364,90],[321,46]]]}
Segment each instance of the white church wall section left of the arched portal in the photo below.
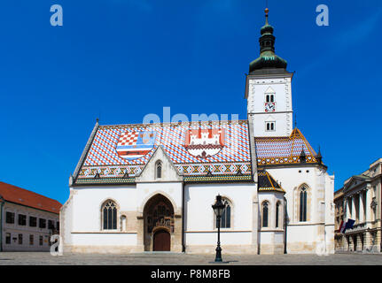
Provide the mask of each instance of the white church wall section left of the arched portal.
{"label": "white church wall section left of the arched portal", "polygon": [[[117,204],[116,230],[103,230],[101,208],[107,200]],[[135,246],[136,231],[123,231],[121,217],[126,216],[129,227],[130,221],[136,221],[136,205],[136,186],[72,187],[61,210],[64,252],[65,246]],[[134,216],[129,217],[129,212]]]}

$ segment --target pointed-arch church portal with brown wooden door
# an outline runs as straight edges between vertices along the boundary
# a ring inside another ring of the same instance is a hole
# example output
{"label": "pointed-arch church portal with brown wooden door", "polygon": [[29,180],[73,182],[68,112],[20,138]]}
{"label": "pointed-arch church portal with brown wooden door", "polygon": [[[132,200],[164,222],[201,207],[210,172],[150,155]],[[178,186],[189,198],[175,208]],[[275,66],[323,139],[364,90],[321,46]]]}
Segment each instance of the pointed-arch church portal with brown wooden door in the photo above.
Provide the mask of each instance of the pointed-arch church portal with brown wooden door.
{"label": "pointed-arch church portal with brown wooden door", "polygon": [[171,250],[174,207],[164,195],[154,195],[144,206],[144,250]]}

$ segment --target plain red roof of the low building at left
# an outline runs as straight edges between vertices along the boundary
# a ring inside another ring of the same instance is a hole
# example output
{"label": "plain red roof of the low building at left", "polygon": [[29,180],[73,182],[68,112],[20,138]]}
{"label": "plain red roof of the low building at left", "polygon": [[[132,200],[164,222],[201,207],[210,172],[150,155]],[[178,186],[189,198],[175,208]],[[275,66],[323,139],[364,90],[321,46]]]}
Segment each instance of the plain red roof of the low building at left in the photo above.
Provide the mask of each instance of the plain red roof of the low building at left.
{"label": "plain red roof of the low building at left", "polygon": [[58,201],[49,197],[38,195],[21,187],[0,182],[0,196],[11,203],[19,203],[37,210],[45,210],[53,213],[59,213],[62,206]]}

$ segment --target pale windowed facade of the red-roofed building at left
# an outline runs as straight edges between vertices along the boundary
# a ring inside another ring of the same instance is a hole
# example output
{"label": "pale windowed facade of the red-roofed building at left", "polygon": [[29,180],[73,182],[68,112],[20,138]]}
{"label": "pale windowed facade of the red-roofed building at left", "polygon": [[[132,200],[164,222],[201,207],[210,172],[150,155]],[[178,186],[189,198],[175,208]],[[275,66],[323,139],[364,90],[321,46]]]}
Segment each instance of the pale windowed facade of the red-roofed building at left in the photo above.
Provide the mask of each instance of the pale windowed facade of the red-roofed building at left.
{"label": "pale windowed facade of the red-roofed building at left", "polygon": [[[6,223],[6,212],[14,213],[14,223]],[[18,215],[26,215],[26,226],[19,226]],[[29,226],[29,217],[37,218],[35,227]],[[39,228],[39,218],[46,220],[46,227]],[[49,211],[37,210],[16,203],[4,203],[3,210],[3,250],[4,251],[49,251],[50,250],[50,230],[48,229],[48,221],[52,220],[54,226],[59,221],[58,214]],[[6,243],[6,235],[11,233],[11,243]],[[19,234],[22,234],[22,244],[19,244]],[[30,244],[29,237],[33,235],[33,244]],[[43,236],[43,245],[40,245],[40,236]]]}

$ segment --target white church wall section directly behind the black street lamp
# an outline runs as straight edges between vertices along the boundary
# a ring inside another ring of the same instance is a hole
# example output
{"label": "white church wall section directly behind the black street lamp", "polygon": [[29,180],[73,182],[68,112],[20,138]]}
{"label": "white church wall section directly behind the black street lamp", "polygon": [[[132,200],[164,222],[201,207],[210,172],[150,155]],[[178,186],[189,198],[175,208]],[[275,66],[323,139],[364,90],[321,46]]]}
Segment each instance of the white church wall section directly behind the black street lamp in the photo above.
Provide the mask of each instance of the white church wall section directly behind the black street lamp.
{"label": "white church wall section directly behind the black street lamp", "polygon": [[[216,195],[231,203],[230,228],[221,229],[222,249],[251,252],[253,248],[253,198],[255,184],[195,184],[185,186],[185,244],[189,252],[207,252],[216,246],[214,228]],[[257,233],[256,231],[254,233]],[[254,243],[256,245],[256,243]],[[235,246],[235,249],[232,247]],[[238,246],[238,247],[236,247]],[[247,251],[245,248],[247,247]],[[232,249],[231,249],[232,248]],[[252,250],[252,252],[255,252]]]}

